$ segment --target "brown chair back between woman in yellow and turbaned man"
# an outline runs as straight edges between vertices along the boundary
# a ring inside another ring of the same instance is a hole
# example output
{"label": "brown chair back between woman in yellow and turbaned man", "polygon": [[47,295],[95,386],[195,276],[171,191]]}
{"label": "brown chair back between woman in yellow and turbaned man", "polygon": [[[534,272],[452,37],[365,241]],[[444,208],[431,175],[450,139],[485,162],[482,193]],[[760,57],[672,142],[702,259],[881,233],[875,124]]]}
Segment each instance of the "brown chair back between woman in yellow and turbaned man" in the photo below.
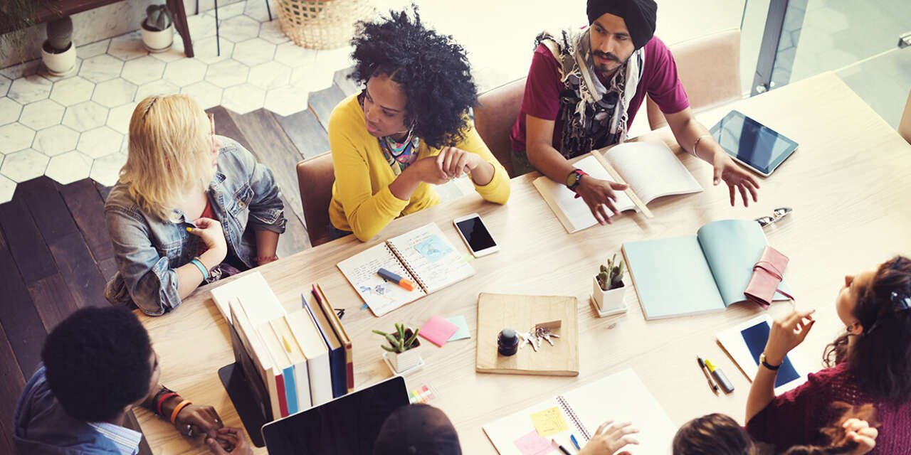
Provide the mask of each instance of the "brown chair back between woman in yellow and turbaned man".
{"label": "brown chair back between woman in yellow and turbaned man", "polygon": [[512,146],[509,131],[516,123],[522,96],[525,95],[525,77],[486,91],[477,97],[475,128],[491,153],[509,177],[516,177],[512,168]]}

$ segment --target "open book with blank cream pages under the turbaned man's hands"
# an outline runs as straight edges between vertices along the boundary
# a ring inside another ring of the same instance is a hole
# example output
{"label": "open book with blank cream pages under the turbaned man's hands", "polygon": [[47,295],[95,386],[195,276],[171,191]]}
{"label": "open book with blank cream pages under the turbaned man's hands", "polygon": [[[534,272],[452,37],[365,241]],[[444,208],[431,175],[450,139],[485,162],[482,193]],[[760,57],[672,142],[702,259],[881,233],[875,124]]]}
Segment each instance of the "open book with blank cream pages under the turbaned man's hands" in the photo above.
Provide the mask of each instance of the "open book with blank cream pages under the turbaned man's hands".
{"label": "open book with blank cream pages under the turbaned man's hands", "polygon": [[[610,147],[607,152],[594,150],[592,153],[603,154],[610,166],[617,170],[619,177],[646,204],[658,197],[702,191],[690,171],[663,143],[628,142]],[[574,166],[599,180],[617,180],[610,177],[597,157],[584,157],[576,161]],[[576,197],[576,193],[563,183],[546,176],[537,177],[532,183],[570,234],[598,224],[585,201]],[[614,194],[617,195],[617,211],[636,209],[636,205],[623,191],[615,191]]]}

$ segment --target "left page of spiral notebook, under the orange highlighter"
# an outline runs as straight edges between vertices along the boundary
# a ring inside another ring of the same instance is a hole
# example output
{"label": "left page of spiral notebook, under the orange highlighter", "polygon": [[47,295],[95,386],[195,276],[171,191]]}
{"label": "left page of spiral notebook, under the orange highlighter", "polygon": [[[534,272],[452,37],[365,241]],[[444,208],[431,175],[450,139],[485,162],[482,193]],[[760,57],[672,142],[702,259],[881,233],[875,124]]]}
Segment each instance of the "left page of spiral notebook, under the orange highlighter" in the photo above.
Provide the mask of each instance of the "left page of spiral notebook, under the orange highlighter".
{"label": "left page of spiral notebook, under the orange highlighter", "polygon": [[348,278],[351,286],[363,298],[364,303],[370,307],[375,316],[383,316],[395,308],[426,295],[424,289],[420,287],[409,291],[395,283],[387,282],[376,274],[377,270],[385,268],[416,282],[385,243],[368,248],[339,262],[338,268],[342,270],[344,277]]}

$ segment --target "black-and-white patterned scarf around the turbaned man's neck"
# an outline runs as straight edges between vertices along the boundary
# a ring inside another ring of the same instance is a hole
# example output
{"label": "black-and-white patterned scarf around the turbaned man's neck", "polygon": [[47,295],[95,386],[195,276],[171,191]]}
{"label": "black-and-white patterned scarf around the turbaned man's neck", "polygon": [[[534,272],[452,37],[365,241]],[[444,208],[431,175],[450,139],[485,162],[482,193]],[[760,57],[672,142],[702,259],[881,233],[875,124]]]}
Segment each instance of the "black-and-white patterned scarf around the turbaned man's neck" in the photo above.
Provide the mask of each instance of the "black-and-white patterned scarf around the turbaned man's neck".
{"label": "black-and-white patterned scarf around the turbaned man's neck", "polygon": [[564,90],[557,122],[563,126],[560,153],[568,158],[626,140],[627,108],[645,64],[645,51],[637,49],[603,86],[594,70],[589,32],[589,27],[544,31],[535,38],[535,45],[547,45],[560,65]]}

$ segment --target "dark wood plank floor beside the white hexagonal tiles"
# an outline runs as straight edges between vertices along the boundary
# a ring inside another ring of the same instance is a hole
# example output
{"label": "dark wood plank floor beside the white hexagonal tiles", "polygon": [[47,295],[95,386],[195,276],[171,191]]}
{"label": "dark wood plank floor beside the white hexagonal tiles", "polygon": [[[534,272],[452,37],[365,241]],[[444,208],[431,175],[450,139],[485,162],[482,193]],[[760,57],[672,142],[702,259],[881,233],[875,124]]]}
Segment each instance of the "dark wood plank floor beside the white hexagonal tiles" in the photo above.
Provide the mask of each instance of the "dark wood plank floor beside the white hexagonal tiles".
{"label": "dark wood plank floor beside the white hexagonal tiles", "polygon": [[[247,147],[278,181],[288,218],[279,257],[310,248],[294,165],[329,150],[332,108],[356,89],[347,74],[336,74],[341,84],[313,94],[309,109],[292,116],[209,110],[216,133]],[[38,177],[0,204],[0,453],[12,452],[15,404],[41,361],[47,333],[78,308],[107,305],[105,283],[117,272],[104,221],[109,192],[90,179],[60,185]],[[141,453],[150,453],[147,444]]]}

